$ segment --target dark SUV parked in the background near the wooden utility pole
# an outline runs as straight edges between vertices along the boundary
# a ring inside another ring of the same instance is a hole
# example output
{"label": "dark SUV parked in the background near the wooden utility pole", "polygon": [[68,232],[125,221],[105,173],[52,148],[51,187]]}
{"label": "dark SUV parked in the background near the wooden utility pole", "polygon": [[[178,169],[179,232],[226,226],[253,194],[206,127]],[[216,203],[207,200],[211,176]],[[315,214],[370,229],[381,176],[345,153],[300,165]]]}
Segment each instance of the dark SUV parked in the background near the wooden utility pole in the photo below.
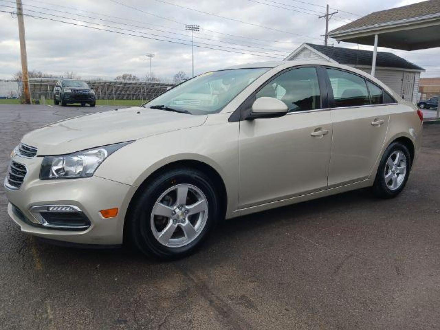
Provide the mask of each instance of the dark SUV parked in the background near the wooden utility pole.
{"label": "dark SUV parked in the background near the wooden utility pole", "polygon": [[73,79],[60,79],[54,88],[54,104],[66,106],[68,103],[81,103],[85,106],[95,106],[95,91],[85,81]]}

